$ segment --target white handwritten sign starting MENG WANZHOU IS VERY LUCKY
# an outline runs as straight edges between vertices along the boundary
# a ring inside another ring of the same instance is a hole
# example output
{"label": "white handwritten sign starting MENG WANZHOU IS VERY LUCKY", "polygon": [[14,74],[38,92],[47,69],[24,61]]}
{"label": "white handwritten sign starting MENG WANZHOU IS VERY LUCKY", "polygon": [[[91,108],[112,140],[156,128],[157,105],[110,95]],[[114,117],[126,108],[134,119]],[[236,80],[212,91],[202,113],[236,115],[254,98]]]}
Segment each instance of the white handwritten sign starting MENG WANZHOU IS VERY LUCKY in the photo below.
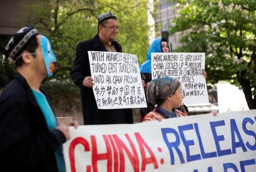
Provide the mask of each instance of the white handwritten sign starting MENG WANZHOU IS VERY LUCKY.
{"label": "white handwritten sign starting MENG WANZHOU IS VERY LUCKY", "polygon": [[204,66],[205,53],[151,53],[152,78],[178,79],[185,104],[209,103]]}

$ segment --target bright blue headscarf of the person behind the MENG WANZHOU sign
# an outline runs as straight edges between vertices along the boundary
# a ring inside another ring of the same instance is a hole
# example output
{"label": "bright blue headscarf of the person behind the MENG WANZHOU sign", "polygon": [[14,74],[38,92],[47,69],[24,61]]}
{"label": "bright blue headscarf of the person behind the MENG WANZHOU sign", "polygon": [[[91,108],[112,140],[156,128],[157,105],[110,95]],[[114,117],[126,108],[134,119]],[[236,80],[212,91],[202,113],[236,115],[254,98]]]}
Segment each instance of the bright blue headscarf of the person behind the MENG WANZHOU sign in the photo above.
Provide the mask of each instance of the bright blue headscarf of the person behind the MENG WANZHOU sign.
{"label": "bright blue headscarf of the person behind the MENG WANZHOU sign", "polygon": [[[150,45],[150,48],[148,49],[148,52],[147,52],[147,59],[146,59],[146,61],[143,62],[143,64],[141,64],[141,68],[140,68],[141,73],[150,73],[151,74],[151,53],[163,52],[161,41],[166,41],[168,44],[166,37],[156,38],[152,42],[152,44]],[[170,47],[169,47],[169,52],[170,52]]]}

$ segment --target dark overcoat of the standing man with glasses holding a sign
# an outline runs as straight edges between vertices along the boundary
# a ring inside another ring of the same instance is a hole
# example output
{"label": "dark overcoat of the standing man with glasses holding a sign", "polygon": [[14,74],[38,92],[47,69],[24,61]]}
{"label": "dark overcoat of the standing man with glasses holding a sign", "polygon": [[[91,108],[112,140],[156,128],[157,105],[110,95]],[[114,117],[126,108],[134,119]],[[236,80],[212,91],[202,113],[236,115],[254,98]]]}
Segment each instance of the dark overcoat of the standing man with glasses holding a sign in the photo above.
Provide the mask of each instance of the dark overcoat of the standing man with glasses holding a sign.
{"label": "dark overcoat of the standing man with glasses holding a sign", "polygon": [[[122,47],[117,41],[114,41],[113,45],[117,52],[122,52]],[[132,124],[131,109],[100,110],[97,107],[93,89],[82,86],[84,78],[91,76],[88,51],[107,51],[98,34],[93,39],[82,41],[77,45],[76,59],[71,71],[73,82],[81,91],[84,124]]]}

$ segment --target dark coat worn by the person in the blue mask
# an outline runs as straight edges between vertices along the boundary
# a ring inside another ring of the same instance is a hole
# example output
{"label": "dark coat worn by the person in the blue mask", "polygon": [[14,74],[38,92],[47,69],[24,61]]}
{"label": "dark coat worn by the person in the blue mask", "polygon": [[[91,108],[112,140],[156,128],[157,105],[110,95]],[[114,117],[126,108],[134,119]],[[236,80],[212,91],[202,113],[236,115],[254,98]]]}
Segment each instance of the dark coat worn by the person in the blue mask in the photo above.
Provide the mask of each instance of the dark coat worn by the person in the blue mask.
{"label": "dark coat worn by the person in the blue mask", "polygon": [[58,129],[49,131],[26,79],[16,73],[0,95],[1,169],[57,172],[54,153],[65,141]]}

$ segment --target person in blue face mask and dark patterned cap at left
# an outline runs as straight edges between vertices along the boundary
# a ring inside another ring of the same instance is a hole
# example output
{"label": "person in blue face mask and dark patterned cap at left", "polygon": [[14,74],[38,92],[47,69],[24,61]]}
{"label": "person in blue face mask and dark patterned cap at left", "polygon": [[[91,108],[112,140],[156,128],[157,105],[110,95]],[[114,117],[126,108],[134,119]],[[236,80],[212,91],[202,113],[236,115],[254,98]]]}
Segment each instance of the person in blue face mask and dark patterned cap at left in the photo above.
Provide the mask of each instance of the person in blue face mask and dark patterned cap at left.
{"label": "person in blue face mask and dark patterned cap at left", "polygon": [[[65,171],[61,145],[68,126],[57,125],[40,87],[56,62],[51,44],[33,26],[21,28],[5,48],[16,74],[0,95],[0,162],[7,171]],[[77,128],[77,121],[70,125]]]}

